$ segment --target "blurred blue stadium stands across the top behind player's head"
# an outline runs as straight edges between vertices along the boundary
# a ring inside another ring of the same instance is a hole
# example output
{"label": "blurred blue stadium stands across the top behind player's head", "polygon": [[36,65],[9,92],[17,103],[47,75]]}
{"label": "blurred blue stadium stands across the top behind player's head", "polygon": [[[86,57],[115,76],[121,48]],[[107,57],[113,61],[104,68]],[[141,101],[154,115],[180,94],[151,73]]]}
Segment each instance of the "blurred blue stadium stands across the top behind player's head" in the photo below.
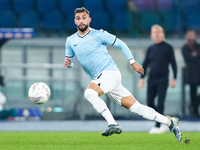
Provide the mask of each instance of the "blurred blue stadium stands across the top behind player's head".
{"label": "blurred blue stadium stands across the top behind player's head", "polygon": [[166,36],[200,31],[199,0],[1,0],[0,28],[34,28],[36,36],[66,36],[76,31],[74,9],[86,7],[91,27],[119,36],[148,37],[153,24]]}

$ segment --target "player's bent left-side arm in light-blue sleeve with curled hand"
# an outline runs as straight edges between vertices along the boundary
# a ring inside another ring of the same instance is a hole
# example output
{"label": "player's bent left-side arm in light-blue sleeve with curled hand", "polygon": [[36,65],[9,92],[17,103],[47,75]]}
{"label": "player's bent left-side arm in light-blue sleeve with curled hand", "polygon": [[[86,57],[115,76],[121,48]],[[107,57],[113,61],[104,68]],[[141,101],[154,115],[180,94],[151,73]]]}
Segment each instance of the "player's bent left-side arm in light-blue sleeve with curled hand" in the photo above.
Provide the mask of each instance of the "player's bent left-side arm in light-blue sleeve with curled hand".
{"label": "player's bent left-side arm in light-blue sleeve with curled hand", "polygon": [[64,66],[71,68],[74,65],[74,57],[75,57],[74,51],[71,49],[68,40],[66,40]]}

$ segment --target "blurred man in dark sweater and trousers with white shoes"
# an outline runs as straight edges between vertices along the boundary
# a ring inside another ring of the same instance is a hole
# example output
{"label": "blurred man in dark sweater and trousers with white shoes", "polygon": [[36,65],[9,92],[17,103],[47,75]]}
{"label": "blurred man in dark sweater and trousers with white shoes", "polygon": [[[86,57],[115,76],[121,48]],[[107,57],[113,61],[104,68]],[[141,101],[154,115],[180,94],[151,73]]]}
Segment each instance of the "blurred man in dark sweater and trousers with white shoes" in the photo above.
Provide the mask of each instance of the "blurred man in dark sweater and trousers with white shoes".
{"label": "blurred man in dark sweater and trousers with white shoes", "polygon": [[[170,44],[164,41],[165,33],[161,26],[153,25],[151,27],[151,39],[154,44],[150,45],[143,62],[145,74],[141,76],[138,89],[144,85],[144,77],[149,68],[149,77],[147,85],[147,105],[154,108],[159,113],[164,113],[165,97],[169,84],[169,65],[172,65],[173,79],[170,86],[176,86],[177,65],[174,56],[174,50]],[[155,98],[158,97],[157,105]],[[149,133],[159,134],[167,131],[167,127],[156,123]]]}

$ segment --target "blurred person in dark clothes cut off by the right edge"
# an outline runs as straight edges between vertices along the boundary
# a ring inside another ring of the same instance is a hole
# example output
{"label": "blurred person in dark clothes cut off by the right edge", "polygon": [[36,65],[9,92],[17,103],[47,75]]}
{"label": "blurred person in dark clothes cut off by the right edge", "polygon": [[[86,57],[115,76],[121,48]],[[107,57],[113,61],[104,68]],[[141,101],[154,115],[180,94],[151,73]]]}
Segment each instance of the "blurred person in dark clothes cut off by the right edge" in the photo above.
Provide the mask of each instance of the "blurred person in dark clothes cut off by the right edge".
{"label": "blurred person in dark clothes cut off by the right edge", "polygon": [[186,64],[186,82],[190,85],[190,115],[199,117],[200,97],[197,95],[197,87],[200,84],[200,44],[196,41],[194,30],[187,30],[185,39],[181,50]]}

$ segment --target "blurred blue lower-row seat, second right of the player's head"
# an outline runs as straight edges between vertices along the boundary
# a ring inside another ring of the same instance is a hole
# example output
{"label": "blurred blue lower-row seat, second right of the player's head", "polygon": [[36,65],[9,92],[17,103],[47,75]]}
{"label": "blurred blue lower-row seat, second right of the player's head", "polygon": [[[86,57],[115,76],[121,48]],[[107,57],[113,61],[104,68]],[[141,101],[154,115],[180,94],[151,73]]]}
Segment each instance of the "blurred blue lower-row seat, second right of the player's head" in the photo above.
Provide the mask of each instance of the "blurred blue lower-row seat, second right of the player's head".
{"label": "blurred blue lower-row seat, second right of the player's head", "polygon": [[116,31],[129,31],[131,26],[131,17],[128,13],[116,13],[113,15],[112,28]]}

